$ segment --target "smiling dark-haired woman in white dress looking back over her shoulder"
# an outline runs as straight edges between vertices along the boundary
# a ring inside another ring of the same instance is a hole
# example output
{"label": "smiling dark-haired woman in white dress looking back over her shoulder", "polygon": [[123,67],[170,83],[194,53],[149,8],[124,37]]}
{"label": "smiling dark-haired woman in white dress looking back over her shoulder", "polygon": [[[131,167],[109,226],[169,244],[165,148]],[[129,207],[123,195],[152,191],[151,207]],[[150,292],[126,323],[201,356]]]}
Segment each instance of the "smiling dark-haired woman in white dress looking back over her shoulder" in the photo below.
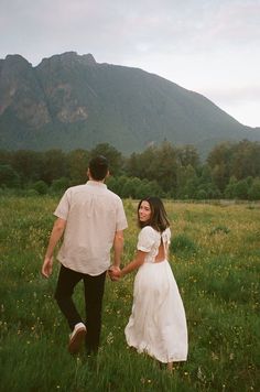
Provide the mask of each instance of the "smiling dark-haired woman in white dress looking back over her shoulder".
{"label": "smiling dark-haired woman in white dress looking back over her shoulder", "polygon": [[167,261],[170,222],[160,198],[148,197],[138,206],[136,258],[121,271],[119,279],[139,268],[134,279],[133,305],[124,329],[127,342],[138,352],[147,352],[167,369],[187,358],[187,327],[183,302]]}

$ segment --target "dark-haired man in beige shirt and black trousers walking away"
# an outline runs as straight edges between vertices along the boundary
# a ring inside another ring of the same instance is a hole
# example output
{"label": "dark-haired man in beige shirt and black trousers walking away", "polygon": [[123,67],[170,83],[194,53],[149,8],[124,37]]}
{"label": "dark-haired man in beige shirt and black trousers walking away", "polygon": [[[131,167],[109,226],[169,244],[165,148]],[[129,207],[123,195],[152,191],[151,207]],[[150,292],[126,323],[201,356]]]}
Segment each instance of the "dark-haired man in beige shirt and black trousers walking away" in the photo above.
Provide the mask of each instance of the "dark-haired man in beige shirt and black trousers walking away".
{"label": "dark-haired man in beige shirt and black trousers walking away", "polygon": [[[53,252],[63,238],[57,254],[61,270],[55,291],[57,304],[72,329],[68,350],[79,351],[84,340],[88,353],[97,352],[101,328],[101,305],[110,249],[113,248],[112,269],[120,268],[123,248],[123,229],[127,219],[122,202],[104,184],[109,175],[104,156],[90,160],[87,171],[89,181],[68,188],[54,215],[57,217],[50,237],[42,274],[52,273]],[[86,323],[73,302],[73,292],[82,281],[85,288]]]}

